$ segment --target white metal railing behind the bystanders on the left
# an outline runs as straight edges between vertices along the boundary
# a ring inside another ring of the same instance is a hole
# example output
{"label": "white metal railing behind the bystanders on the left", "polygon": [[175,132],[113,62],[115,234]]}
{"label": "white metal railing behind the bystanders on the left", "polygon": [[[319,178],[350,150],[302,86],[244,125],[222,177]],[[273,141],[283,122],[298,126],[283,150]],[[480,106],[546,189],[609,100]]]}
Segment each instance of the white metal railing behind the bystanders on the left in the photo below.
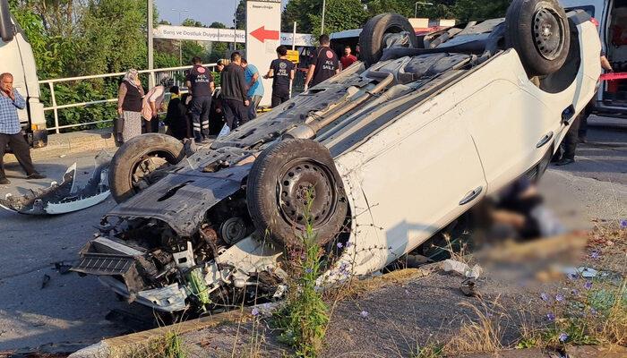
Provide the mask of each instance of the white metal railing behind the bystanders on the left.
{"label": "white metal railing behind the bystanders on the left", "polygon": [[[204,66],[209,67],[210,70],[214,72],[216,64],[204,64]],[[152,79],[152,83],[159,83],[159,81],[163,77],[169,77],[171,79],[174,79],[176,86],[179,86],[183,89],[184,88],[183,85],[185,85],[185,81],[181,81],[181,79],[185,78],[185,70],[189,70],[191,68],[192,68],[191,65],[180,66],[180,67],[156,68],[154,70],[142,70],[140,71],[140,73],[149,73],[150,78]],[[59,110],[64,109],[64,108],[73,108],[73,107],[89,107],[93,105],[102,105],[102,104],[106,105],[109,103],[117,102],[117,98],[107,98],[107,99],[95,100],[95,101],[90,101],[90,102],[72,103],[72,104],[65,104],[65,105],[58,106],[56,104],[56,96],[55,96],[55,84],[56,83],[122,77],[125,74],[126,72],[116,72],[116,73],[107,73],[107,74],[95,74],[91,76],[68,77],[68,78],[62,78],[62,79],[39,81],[39,86],[47,85],[48,88],[50,89],[50,101],[51,101],[52,106],[44,107],[44,113],[46,113],[47,111],[53,111],[55,114],[55,126],[50,127],[47,130],[55,131],[56,133],[59,133],[59,130],[64,129],[64,128],[73,128],[73,127],[80,127],[83,125],[101,124],[101,123],[111,122],[112,121],[111,119],[103,119],[100,121],[93,121],[93,122],[87,122],[87,123],[81,123],[81,124],[59,125]],[[185,92],[186,90],[182,90],[182,91]]]}

